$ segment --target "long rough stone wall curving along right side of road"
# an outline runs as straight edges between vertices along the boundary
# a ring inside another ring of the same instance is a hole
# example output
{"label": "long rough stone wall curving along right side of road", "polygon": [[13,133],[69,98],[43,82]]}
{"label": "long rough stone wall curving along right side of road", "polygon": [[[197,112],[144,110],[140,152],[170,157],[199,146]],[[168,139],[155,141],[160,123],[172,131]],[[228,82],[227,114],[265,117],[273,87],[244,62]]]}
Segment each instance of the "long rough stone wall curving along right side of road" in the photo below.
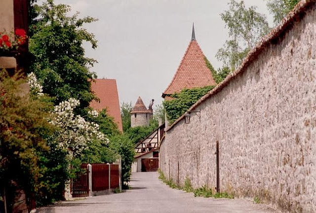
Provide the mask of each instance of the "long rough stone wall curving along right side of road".
{"label": "long rough stone wall curving along right side of road", "polygon": [[190,124],[182,118],[167,129],[160,147],[166,177],[214,190],[219,141],[222,192],[259,197],[289,212],[316,212],[313,2],[242,72],[192,108],[200,110],[200,121],[193,115]]}

